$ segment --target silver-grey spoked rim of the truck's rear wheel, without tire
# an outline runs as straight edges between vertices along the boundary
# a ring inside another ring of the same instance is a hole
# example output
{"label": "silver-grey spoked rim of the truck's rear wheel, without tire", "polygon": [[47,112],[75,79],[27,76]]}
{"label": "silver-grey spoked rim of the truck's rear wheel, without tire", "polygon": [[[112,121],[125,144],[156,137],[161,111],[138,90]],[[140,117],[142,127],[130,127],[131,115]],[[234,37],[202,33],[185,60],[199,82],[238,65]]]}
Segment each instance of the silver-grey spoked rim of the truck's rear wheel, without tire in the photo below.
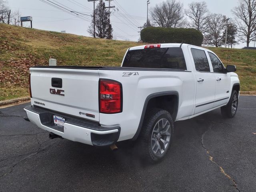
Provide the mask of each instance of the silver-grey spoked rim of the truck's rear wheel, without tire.
{"label": "silver-grey spoked rim of the truck's rear wheel, without tire", "polygon": [[171,128],[166,118],[160,119],[154,126],[151,136],[151,149],[157,156],[163,154],[170,143]]}

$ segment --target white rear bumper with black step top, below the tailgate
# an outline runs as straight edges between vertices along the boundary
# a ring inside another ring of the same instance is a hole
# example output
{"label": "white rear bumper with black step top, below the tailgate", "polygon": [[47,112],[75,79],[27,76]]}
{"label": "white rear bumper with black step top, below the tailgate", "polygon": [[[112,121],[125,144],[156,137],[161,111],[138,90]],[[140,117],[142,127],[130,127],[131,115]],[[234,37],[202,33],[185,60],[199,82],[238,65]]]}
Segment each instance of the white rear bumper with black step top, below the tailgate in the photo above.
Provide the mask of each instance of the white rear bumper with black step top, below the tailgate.
{"label": "white rear bumper with black step top, below the tailgate", "polygon": [[[120,135],[120,127],[102,127],[99,123],[53,112],[44,108],[26,106],[24,108],[30,122],[43,130],[62,136],[68,140],[93,146],[110,146]],[[56,126],[53,115],[65,118],[64,127]]]}

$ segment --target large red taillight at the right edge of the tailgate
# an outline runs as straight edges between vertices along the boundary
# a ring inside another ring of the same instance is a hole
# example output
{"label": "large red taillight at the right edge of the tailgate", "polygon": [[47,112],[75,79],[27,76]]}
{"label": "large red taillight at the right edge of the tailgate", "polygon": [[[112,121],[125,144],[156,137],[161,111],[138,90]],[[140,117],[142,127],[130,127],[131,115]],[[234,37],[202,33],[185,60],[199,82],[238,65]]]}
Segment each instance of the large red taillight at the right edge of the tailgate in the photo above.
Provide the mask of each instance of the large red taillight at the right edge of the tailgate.
{"label": "large red taillight at the right edge of the tailgate", "polygon": [[100,113],[122,112],[122,84],[113,80],[100,79]]}

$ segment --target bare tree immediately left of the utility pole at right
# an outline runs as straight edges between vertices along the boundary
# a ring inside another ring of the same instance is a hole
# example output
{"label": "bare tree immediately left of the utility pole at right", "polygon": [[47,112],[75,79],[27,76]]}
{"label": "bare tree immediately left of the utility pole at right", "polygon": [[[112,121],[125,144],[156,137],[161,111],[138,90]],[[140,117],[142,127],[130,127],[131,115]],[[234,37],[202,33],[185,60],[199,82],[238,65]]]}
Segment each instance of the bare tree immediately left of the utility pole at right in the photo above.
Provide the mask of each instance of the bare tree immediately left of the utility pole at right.
{"label": "bare tree immediately left of the utility pole at right", "polygon": [[223,45],[223,29],[226,24],[226,16],[222,14],[211,14],[209,16],[207,27],[208,31],[205,36],[205,42],[208,45],[214,45],[216,47]]}

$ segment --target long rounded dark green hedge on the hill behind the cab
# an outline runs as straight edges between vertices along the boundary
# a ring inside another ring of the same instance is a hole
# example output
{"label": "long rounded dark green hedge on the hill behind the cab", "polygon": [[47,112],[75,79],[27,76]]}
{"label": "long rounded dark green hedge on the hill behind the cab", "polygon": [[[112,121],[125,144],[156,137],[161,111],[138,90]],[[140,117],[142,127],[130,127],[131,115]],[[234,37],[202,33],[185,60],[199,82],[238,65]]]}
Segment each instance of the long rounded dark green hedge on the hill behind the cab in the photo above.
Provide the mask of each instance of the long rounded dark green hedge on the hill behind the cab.
{"label": "long rounded dark green hedge on the hill behind the cab", "polygon": [[147,27],[140,33],[142,42],[148,43],[186,43],[201,46],[203,35],[190,28]]}

